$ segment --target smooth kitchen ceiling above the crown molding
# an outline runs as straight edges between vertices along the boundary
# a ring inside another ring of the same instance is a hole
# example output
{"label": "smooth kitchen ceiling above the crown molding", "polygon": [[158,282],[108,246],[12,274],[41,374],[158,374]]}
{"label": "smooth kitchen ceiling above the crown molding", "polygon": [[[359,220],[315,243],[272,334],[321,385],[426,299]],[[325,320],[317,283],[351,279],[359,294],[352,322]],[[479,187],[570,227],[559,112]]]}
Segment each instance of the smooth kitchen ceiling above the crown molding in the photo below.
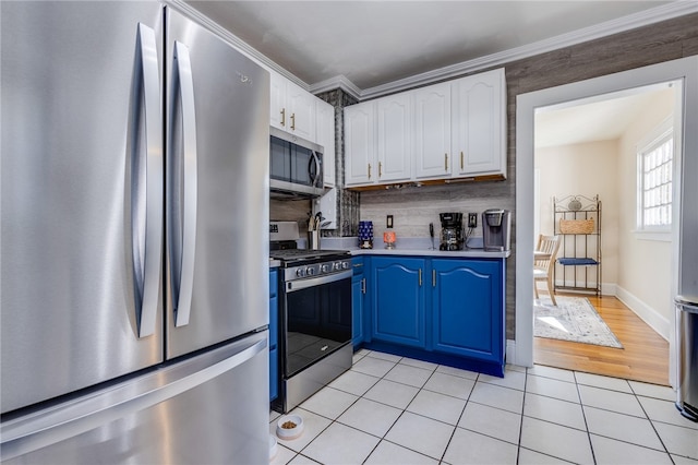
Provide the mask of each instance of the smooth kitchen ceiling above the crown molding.
{"label": "smooth kitchen ceiling above the crown molding", "polygon": [[340,78],[360,91],[522,47],[559,47],[570,35],[609,34],[622,19],[648,21],[658,10],[663,19],[667,7],[687,3],[184,1],[309,88]]}

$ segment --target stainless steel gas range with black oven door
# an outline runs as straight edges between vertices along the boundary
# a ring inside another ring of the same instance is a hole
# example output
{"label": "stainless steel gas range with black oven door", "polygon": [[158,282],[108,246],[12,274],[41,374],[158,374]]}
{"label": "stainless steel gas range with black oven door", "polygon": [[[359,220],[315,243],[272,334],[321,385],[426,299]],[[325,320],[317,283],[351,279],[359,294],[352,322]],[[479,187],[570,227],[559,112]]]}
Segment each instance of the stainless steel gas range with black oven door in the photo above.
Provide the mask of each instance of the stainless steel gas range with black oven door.
{"label": "stainless steel gas range with black oven door", "polygon": [[351,368],[351,255],[297,248],[298,224],[273,222],[269,257],[279,269],[281,413]]}

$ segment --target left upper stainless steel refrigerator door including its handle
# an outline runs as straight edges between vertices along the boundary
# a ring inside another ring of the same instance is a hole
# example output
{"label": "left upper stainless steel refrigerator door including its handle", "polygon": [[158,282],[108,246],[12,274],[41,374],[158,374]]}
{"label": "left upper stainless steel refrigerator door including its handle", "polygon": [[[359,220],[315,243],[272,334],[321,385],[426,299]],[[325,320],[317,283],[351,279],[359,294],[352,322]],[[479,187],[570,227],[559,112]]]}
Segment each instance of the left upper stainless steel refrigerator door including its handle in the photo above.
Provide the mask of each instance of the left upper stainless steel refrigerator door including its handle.
{"label": "left upper stainless steel refrigerator door including its handle", "polygon": [[5,413],[163,360],[163,12],[2,1],[0,16]]}

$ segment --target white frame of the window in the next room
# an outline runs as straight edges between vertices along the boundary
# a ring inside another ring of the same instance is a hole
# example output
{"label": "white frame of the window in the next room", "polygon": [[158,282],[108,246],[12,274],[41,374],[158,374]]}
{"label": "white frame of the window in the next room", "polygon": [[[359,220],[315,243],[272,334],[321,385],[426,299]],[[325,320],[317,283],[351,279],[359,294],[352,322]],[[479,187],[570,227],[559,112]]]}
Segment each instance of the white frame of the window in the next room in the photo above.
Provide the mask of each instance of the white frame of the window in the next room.
{"label": "white frame of the window in the next room", "polygon": [[676,139],[674,133],[674,124],[673,124],[673,116],[666,117],[662,122],[650,131],[646,138],[643,138],[636,146],[637,153],[637,215],[636,215],[636,224],[637,229],[635,230],[638,239],[645,240],[661,240],[661,241],[671,241],[671,231],[672,231],[672,214],[670,211],[669,215],[669,224],[666,225],[646,225],[645,217],[645,178],[643,178],[643,169],[645,169],[645,156],[647,153],[655,150],[660,145],[666,142],[667,139],[673,141],[672,143],[672,165],[670,169],[670,195],[672,196],[672,207],[673,207],[673,174],[674,174],[674,163],[676,159]]}

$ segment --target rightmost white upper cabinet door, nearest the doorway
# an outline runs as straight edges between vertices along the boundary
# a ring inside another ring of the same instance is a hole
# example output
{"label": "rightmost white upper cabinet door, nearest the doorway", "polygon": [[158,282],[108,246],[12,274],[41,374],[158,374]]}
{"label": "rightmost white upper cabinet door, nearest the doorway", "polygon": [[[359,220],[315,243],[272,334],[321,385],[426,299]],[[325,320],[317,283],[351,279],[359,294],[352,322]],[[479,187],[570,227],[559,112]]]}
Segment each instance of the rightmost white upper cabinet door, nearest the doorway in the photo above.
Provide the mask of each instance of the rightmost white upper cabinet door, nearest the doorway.
{"label": "rightmost white upper cabinet door, nearest the doorway", "polygon": [[504,69],[454,82],[453,153],[456,176],[506,176]]}

